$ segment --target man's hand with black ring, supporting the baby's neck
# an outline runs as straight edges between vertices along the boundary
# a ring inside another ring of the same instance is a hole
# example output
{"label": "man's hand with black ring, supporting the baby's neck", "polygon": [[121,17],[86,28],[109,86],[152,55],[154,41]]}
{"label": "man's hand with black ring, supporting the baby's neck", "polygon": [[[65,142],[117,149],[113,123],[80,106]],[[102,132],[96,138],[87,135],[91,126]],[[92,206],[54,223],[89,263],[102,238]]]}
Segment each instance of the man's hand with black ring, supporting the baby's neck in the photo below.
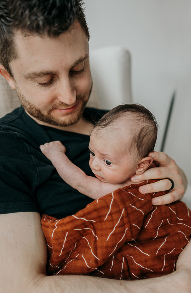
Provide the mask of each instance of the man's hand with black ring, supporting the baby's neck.
{"label": "man's hand with black ring, supporting the baby's neck", "polygon": [[139,187],[139,192],[155,193],[157,191],[169,190],[171,188],[170,178],[174,181],[174,188],[166,195],[155,197],[152,199],[153,205],[164,205],[176,200],[181,200],[187,188],[187,179],[184,172],[178,167],[173,159],[163,152],[149,153],[157,166],[157,168],[150,168],[141,175],[134,175],[131,177],[132,182],[141,182],[149,179],[162,179],[155,183],[143,185]]}

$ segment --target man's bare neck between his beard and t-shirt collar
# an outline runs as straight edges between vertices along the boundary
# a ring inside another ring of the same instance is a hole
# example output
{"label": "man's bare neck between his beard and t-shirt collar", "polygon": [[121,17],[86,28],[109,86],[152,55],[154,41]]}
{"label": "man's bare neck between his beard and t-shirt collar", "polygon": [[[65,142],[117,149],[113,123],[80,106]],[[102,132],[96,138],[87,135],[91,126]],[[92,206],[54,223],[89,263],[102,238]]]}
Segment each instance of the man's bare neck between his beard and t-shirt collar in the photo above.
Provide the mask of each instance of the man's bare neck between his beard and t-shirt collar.
{"label": "man's bare neck between his beard and t-shirt collar", "polygon": [[30,115],[26,110],[25,110],[25,112],[28,116],[30,116],[33,120],[35,120],[35,122],[37,122],[40,125],[45,125],[45,126],[60,129],[60,130],[76,132],[76,133],[85,134],[85,135],[90,135],[91,131],[92,131],[93,124],[89,121],[86,122],[85,119],[83,118],[83,116],[80,118],[80,120],[78,122],[76,122],[72,125],[57,126],[57,125],[52,125],[52,124],[49,124],[46,122],[42,122],[42,121],[36,119],[35,117],[33,117],[32,115]]}

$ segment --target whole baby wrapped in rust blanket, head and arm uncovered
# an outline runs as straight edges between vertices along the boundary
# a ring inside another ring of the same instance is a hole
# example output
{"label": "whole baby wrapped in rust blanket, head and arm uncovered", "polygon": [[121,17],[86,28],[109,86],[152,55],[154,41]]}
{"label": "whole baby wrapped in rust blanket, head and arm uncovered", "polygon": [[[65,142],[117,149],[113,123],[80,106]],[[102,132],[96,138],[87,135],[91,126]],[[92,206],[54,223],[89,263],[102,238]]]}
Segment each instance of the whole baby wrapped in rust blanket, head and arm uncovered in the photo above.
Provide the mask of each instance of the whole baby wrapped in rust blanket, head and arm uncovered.
{"label": "whole baby wrapped in rust blanket, head and arm uncovered", "polygon": [[[96,201],[64,219],[42,215],[48,274],[89,274],[117,279],[172,272],[191,235],[190,211],[183,202],[153,207],[130,177],[152,163],[157,123],[141,105],[120,105],[106,113],[90,136],[86,174],[65,155],[58,141],[40,146],[62,179]],[[150,180],[153,182],[153,180]],[[150,183],[149,182],[149,183]],[[131,185],[129,185],[131,184]]]}

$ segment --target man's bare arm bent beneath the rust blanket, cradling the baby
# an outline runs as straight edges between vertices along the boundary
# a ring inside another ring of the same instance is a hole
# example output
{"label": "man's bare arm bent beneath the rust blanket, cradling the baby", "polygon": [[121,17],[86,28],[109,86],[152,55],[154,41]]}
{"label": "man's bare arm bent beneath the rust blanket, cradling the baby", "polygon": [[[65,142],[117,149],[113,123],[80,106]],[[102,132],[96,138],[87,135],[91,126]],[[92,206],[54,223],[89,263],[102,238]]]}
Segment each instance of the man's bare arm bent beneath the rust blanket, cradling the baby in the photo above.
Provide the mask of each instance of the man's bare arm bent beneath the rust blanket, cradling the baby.
{"label": "man's bare arm bent beneath the rust blanket, cradling the baby", "polygon": [[21,212],[0,215],[1,293],[190,292],[191,243],[180,254],[177,271],[138,281],[98,279],[89,276],[46,276],[47,249],[40,214]]}

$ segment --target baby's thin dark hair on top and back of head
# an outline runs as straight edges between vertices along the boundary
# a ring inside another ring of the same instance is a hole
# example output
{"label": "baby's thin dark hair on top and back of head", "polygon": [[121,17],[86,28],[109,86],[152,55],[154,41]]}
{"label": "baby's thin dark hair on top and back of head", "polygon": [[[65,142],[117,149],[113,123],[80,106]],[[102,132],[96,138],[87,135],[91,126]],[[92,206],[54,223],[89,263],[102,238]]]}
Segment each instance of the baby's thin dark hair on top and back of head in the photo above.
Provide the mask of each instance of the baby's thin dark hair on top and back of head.
{"label": "baby's thin dark hair on top and back of head", "polygon": [[[154,115],[140,104],[119,105],[106,113],[98,122],[95,123],[93,130],[103,129],[130,114],[132,119],[137,122],[137,130],[134,132],[130,151],[137,148],[138,160],[148,156],[154,150],[157,139],[158,125]],[[123,120],[124,121],[124,120]]]}

